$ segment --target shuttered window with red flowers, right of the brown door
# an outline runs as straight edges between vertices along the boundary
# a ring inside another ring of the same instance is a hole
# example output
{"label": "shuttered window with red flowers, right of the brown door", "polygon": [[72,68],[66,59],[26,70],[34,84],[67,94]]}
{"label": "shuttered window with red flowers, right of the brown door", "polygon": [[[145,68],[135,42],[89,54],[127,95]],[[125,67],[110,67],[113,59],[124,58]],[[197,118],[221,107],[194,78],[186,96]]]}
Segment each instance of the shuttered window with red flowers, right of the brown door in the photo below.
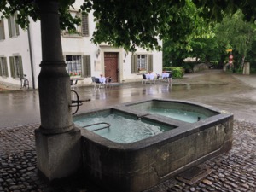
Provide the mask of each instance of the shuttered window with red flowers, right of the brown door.
{"label": "shuttered window with red flowers, right of the brown door", "polygon": [[131,55],[131,73],[153,71],[153,55]]}

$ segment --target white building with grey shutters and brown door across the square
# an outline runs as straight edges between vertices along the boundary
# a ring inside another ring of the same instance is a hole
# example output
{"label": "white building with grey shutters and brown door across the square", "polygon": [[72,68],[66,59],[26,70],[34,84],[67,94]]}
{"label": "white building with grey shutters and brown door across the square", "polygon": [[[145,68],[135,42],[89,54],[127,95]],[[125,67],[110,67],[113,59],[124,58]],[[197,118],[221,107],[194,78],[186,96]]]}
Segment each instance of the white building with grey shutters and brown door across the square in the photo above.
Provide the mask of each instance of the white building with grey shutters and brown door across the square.
{"label": "white building with grey shutters and brown door across the square", "polygon": [[[76,3],[79,1],[76,1]],[[76,6],[76,5],[74,5]],[[71,10],[72,15],[79,12]],[[15,15],[0,20],[0,84],[19,86],[20,74],[26,74],[30,87],[38,88],[39,64],[42,61],[40,21],[33,22],[26,31],[15,24]],[[91,84],[91,77],[111,77],[112,82],[142,80],[142,73],[162,72],[162,52],[137,49],[125,52],[108,44],[90,42],[95,29],[93,15],[82,16],[77,32],[61,32],[63,58],[71,77],[79,84]]]}

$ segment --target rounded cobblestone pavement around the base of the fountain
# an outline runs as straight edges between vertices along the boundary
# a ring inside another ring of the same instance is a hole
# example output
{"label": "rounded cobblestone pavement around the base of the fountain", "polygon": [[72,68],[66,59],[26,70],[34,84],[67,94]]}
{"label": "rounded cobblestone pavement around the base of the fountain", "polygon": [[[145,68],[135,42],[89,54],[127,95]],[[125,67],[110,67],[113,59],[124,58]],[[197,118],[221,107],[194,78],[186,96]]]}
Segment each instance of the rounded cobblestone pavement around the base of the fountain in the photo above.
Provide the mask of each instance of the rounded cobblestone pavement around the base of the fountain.
{"label": "rounded cobblestone pavement around the base of the fountain", "polygon": [[[105,192],[84,177],[50,185],[37,175],[34,130],[38,124],[0,129],[0,192]],[[256,124],[234,121],[233,148],[200,166],[212,172],[189,185],[175,177],[147,192],[256,191]]]}

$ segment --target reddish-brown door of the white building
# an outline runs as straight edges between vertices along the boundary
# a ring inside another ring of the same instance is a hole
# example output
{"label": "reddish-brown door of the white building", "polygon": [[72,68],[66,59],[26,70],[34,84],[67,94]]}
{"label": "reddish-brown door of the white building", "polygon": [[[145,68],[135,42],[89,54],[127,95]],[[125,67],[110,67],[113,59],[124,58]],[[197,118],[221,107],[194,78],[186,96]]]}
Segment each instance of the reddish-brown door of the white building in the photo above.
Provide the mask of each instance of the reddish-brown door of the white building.
{"label": "reddish-brown door of the white building", "polygon": [[111,82],[118,82],[118,53],[104,53],[105,77],[111,77]]}

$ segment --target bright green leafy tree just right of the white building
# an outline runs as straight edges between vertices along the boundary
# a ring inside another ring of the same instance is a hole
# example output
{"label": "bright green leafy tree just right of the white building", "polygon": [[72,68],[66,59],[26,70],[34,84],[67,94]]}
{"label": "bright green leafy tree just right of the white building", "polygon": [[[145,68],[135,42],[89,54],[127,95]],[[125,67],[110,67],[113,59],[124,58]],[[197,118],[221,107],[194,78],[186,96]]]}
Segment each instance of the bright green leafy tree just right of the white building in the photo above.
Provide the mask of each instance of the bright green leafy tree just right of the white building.
{"label": "bright green leafy tree just right of the white building", "polygon": [[[172,32],[166,34],[164,38],[164,65],[169,66],[170,61],[176,66],[183,64],[183,59],[195,57],[197,59],[206,59],[212,49],[216,47],[213,44],[212,25],[206,18],[201,17],[202,9],[197,9],[195,4],[187,0],[183,8],[177,9],[178,22],[172,27]],[[171,20],[171,19],[170,19]],[[176,33],[183,33],[181,37],[176,37]]]}

